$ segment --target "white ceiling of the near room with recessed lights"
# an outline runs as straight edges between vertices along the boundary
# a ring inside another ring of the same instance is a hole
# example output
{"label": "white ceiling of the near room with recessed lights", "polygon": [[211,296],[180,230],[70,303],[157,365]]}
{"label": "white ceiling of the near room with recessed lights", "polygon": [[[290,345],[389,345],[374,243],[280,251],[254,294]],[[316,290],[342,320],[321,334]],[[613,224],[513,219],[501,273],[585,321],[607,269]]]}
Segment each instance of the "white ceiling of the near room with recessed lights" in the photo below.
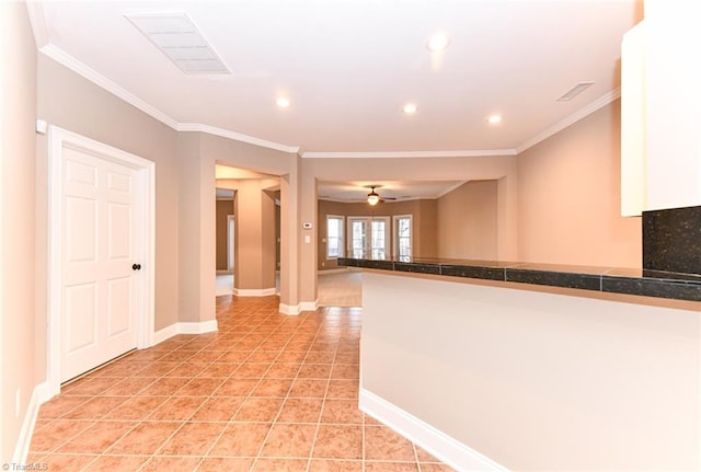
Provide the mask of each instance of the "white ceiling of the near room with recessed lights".
{"label": "white ceiling of the near room with recessed lights", "polygon": [[[169,125],[309,156],[515,153],[616,97],[621,37],[642,16],[635,0],[55,0],[30,9],[39,48]],[[232,73],[183,73],[125,18],[152,12],[186,13]],[[438,31],[450,36],[440,55],[425,46]],[[582,81],[595,84],[556,101]],[[288,108],[276,105],[281,95]],[[415,115],[402,112],[406,102]],[[485,123],[492,113],[503,123]]]}

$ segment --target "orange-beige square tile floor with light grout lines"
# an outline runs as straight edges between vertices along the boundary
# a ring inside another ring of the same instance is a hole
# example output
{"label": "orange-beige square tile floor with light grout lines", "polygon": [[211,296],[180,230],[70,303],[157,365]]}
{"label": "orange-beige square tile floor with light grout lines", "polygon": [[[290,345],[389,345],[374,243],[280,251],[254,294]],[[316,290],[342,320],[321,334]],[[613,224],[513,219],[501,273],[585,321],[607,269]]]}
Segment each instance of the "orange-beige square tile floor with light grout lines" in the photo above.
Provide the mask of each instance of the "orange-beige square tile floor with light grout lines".
{"label": "orange-beige square tile floor with light grout lines", "polygon": [[357,408],[360,309],[217,299],[179,335],[64,387],[28,462],[55,471],[451,471]]}

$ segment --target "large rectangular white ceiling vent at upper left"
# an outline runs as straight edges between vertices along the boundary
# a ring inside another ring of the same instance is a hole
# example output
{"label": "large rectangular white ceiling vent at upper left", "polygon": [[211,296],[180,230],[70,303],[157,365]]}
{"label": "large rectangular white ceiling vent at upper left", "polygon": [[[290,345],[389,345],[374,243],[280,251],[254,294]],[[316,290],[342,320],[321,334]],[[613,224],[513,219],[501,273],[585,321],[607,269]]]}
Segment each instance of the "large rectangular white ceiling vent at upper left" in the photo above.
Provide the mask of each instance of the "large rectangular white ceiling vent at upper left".
{"label": "large rectangular white ceiling vent at upper left", "polygon": [[185,73],[231,73],[185,13],[125,14]]}

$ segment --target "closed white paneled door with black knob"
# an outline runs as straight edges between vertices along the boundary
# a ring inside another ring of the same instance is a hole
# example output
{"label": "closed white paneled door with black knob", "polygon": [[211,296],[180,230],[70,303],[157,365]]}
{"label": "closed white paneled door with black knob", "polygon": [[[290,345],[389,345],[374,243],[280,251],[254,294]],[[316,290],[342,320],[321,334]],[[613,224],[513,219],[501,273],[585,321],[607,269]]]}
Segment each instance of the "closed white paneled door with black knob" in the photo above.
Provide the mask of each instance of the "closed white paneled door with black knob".
{"label": "closed white paneled door with black knob", "polygon": [[137,171],[64,148],[60,381],[137,346]]}

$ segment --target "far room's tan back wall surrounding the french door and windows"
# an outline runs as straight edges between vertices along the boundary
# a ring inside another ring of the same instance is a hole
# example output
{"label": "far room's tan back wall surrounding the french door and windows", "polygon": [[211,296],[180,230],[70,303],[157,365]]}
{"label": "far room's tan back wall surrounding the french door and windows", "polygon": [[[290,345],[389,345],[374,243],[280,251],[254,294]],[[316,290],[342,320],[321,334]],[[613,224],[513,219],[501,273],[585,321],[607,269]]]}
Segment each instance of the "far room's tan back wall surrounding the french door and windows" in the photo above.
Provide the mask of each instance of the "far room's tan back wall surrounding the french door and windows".
{"label": "far room's tan back wall surrounding the french door and windows", "polygon": [[[319,200],[319,217],[318,217],[318,269],[329,270],[338,268],[335,258],[326,258],[326,217],[329,215],[349,217],[349,216],[365,216],[365,217],[390,217],[390,225],[393,225],[392,217],[399,215],[412,216],[412,231],[413,234],[413,253],[414,257],[430,257],[436,246],[436,227],[430,225],[423,225],[425,211],[434,211],[435,205],[432,205],[433,200],[407,200],[407,202],[384,202],[377,207],[370,207],[366,203],[354,202],[331,202]],[[426,219],[430,222],[432,217]],[[345,245],[347,247],[347,219],[345,220]],[[390,242],[390,253],[394,253],[394,241]]]}

